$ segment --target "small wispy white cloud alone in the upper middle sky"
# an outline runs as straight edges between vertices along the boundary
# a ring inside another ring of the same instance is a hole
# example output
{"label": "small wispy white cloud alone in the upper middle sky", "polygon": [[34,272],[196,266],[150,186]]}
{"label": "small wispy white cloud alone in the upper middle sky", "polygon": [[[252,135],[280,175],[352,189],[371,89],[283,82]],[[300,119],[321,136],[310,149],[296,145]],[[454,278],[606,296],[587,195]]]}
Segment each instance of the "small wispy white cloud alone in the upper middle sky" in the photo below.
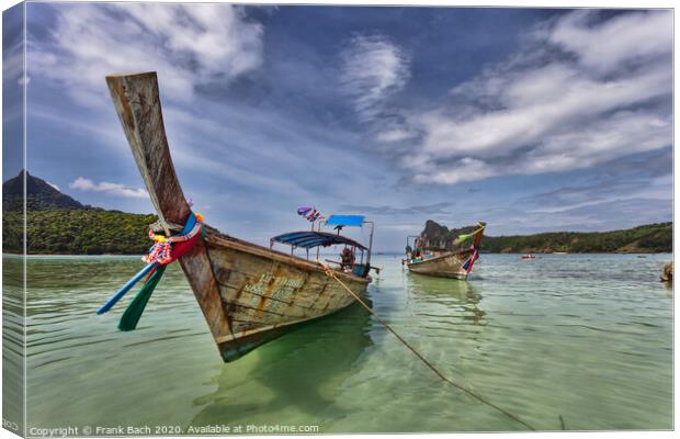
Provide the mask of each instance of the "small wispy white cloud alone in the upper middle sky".
{"label": "small wispy white cloud alone in the upper middle sky", "polygon": [[410,77],[404,52],[383,36],[356,36],[342,52],[341,87],[363,121],[375,119],[387,98]]}

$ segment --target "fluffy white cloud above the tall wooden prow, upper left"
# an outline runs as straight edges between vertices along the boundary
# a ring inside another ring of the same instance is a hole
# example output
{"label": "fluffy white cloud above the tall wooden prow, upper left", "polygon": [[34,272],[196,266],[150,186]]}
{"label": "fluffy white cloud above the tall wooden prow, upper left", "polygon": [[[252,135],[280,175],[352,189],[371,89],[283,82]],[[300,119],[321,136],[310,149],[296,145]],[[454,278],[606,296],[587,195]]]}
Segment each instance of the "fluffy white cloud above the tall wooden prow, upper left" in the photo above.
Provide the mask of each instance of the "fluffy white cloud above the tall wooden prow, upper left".
{"label": "fluffy white cloud above the tall wooden prow, upper left", "polygon": [[66,85],[80,102],[106,100],[104,76],[156,70],[163,92],[189,99],[195,85],[228,82],[258,68],[263,29],[229,4],[58,4],[49,41],[30,38],[27,68]]}

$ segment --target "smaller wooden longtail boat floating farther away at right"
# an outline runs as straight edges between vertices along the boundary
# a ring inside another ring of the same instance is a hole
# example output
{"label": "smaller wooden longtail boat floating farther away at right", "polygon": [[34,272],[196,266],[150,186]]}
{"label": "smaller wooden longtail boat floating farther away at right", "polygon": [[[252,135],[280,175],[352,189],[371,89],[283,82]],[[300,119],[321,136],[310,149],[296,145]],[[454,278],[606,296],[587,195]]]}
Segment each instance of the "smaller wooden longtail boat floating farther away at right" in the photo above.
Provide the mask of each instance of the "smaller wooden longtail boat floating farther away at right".
{"label": "smaller wooden longtail boat floating farther away at right", "polygon": [[[473,266],[479,258],[479,245],[485,228],[485,223],[477,223],[477,228],[473,233],[458,236],[455,244],[465,244],[472,238],[472,245],[455,251],[428,250],[426,237],[408,236],[405,263],[413,273],[471,280]],[[410,238],[415,238],[413,247],[410,246]]]}

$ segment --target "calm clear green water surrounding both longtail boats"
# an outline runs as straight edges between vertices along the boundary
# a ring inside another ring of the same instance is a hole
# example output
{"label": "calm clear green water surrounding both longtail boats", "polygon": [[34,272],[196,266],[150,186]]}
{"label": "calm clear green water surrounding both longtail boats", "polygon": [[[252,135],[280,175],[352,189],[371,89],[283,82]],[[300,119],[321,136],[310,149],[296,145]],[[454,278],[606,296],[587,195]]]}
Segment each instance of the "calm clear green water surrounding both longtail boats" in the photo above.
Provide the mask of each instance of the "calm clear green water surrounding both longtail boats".
{"label": "calm clear green water surrounding both longtail boats", "polygon": [[[671,255],[483,255],[471,283],[409,274],[399,258],[376,258],[369,300],[452,380],[542,430],[560,416],[577,430],[672,428],[672,291],[658,281]],[[94,312],[140,266],[29,261],[29,428],[524,429],[443,384],[359,306],[224,364],[171,267],[138,330],[121,333],[124,305]]]}

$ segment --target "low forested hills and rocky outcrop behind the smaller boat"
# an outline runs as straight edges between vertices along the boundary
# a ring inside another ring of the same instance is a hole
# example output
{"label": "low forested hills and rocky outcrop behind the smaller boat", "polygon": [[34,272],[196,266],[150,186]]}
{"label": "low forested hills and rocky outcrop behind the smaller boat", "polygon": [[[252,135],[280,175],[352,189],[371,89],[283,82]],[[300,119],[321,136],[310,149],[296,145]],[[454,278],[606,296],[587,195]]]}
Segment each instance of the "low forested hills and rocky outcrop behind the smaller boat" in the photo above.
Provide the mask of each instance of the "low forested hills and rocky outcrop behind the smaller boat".
{"label": "low forested hills and rocky outcrop behind the smaller boat", "polygon": [[[423,234],[430,243],[446,247],[460,234],[474,227],[451,229],[431,219]],[[670,252],[672,251],[672,223],[647,224],[625,230],[612,232],[552,232],[520,236],[485,236],[481,251],[488,252]]]}

